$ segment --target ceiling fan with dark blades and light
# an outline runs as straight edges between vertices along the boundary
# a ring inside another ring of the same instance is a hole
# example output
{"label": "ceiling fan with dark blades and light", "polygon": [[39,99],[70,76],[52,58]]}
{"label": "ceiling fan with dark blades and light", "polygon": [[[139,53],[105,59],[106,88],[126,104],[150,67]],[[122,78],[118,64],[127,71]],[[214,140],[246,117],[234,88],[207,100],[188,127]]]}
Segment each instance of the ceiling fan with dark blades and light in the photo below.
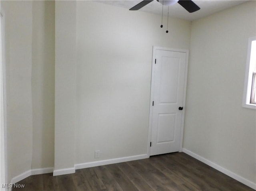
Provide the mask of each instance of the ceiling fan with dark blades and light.
{"label": "ceiling fan with dark blades and light", "polygon": [[[153,0],[143,0],[142,2],[136,4],[134,7],[130,8],[129,10],[135,11],[139,10],[140,8],[144,7],[145,5],[149,4]],[[198,7],[192,0],[157,0],[162,5],[173,5],[178,2],[183,8],[185,8],[188,12],[192,13],[195,11],[200,10],[200,7]]]}

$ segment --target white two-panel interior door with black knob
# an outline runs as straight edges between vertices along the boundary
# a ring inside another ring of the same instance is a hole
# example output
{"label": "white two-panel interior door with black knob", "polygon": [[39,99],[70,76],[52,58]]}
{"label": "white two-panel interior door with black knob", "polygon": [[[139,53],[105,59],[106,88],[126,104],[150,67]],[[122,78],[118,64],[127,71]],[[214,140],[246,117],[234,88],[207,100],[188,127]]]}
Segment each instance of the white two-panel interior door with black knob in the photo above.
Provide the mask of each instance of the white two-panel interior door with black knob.
{"label": "white two-panel interior door with black knob", "polygon": [[183,137],[188,51],[154,47],[150,156],[178,152]]}

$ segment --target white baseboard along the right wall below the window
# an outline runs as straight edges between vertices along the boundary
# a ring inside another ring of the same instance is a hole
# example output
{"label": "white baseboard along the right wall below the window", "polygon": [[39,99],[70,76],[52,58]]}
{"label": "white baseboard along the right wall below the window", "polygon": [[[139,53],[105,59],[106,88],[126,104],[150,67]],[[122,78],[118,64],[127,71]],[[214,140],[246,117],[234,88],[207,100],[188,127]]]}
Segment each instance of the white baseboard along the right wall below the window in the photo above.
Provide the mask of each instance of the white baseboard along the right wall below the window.
{"label": "white baseboard along the right wall below the window", "polygon": [[233,173],[233,172],[223,168],[222,166],[217,165],[216,163],[213,163],[212,161],[210,161],[206,158],[203,158],[203,157],[199,156],[198,154],[195,154],[195,153],[191,152],[190,150],[187,150],[187,149],[183,148],[182,152],[192,156],[195,159],[200,160],[201,162],[209,165],[210,167],[213,167],[214,169],[216,169],[216,170],[218,170],[218,171],[236,179],[237,181],[245,184],[246,186],[251,187],[252,189],[256,190],[256,183],[254,183],[252,181],[249,181],[249,180],[237,175],[236,173]]}

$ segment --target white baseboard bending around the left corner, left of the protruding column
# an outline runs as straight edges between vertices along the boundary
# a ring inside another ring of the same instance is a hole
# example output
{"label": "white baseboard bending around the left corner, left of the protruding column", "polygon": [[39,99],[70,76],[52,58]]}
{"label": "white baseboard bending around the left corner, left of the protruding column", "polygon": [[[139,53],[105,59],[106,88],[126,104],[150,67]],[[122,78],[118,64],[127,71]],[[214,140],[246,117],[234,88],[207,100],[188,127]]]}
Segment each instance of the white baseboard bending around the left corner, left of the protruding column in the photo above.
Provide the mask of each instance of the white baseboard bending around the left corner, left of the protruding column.
{"label": "white baseboard bending around the left corner, left of the protruding column", "polygon": [[12,178],[11,183],[17,183],[31,175],[37,175],[37,174],[45,174],[45,173],[52,173],[53,172],[53,167],[48,167],[48,168],[38,168],[38,169],[30,169],[24,173],[21,173],[20,175]]}

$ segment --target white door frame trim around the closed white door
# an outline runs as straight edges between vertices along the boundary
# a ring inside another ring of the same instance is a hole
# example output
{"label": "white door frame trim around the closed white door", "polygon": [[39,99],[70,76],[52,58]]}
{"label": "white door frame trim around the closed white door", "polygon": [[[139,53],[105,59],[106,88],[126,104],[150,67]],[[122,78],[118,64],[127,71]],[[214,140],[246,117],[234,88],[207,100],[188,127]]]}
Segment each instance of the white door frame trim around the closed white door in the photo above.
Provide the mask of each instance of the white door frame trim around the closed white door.
{"label": "white door frame trim around the closed white door", "polygon": [[156,51],[164,50],[164,51],[174,51],[174,52],[182,52],[186,53],[186,63],[185,63],[185,79],[184,79],[184,93],[183,93],[183,110],[181,117],[181,130],[180,130],[180,149],[179,152],[182,152],[182,144],[183,144],[183,132],[184,132],[184,119],[185,119],[185,110],[186,110],[186,89],[187,89],[187,79],[188,79],[188,49],[176,49],[176,48],[168,48],[168,47],[159,47],[153,46],[152,51],[152,70],[151,70],[151,88],[150,88],[150,108],[149,108],[149,122],[148,122],[148,158],[150,157],[150,141],[151,141],[151,131],[152,131],[152,118],[153,118],[153,106],[152,102],[154,95],[154,78],[155,78],[155,59],[156,59]]}

